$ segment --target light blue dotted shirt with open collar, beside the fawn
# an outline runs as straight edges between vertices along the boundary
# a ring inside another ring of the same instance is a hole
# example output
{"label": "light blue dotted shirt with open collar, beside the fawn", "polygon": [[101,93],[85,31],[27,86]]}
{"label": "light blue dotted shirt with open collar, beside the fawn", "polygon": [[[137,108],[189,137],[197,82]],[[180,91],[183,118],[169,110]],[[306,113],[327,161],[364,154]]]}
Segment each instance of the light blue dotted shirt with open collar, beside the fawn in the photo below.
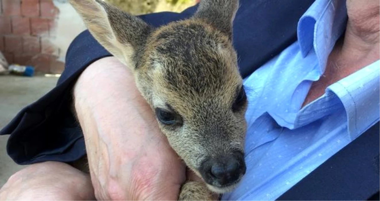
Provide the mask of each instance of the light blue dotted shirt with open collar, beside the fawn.
{"label": "light blue dotted shirt with open collar, beside the fawn", "polygon": [[278,198],[379,121],[380,60],[301,109],[344,34],[345,2],[316,0],[299,20],[298,41],[244,80],[247,172],[223,201]]}

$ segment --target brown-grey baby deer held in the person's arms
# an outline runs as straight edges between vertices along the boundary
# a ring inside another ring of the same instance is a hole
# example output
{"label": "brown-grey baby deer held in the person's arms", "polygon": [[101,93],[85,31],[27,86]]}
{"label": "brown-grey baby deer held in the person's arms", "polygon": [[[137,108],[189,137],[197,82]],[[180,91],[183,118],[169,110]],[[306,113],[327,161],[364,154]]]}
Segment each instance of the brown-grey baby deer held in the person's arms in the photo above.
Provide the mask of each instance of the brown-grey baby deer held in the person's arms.
{"label": "brown-grey baby deer held in the person's arms", "polygon": [[212,200],[245,174],[247,97],[232,45],[238,0],[201,0],[190,19],[153,28],[102,0],[70,0],[93,37],[130,67],[169,144],[204,182],[179,200]]}

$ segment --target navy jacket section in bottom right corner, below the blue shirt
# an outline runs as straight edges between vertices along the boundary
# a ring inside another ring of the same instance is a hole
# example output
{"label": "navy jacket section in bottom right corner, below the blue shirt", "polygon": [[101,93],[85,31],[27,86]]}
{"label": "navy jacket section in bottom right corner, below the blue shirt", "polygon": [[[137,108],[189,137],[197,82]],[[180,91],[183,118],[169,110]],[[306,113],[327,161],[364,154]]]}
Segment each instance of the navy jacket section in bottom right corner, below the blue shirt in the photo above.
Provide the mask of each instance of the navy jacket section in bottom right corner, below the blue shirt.
{"label": "navy jacket section in bottom right corner, below the blue shirt", "polygon": [[278,201],[380,200],[380,122],[329,158]]}

